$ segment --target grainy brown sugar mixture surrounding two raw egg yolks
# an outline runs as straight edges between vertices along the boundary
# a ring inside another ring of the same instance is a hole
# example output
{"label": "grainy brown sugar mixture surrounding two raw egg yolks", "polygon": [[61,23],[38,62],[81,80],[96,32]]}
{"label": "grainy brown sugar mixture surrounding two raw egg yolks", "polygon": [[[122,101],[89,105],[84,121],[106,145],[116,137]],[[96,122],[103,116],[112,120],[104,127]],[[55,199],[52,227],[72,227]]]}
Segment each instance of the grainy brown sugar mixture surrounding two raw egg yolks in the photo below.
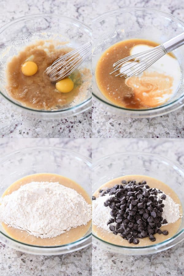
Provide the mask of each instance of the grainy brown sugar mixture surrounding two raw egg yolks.
{"label": "grainy brown sugar mixture surrounding two raw egg yolks", "polygon": [[[37,43],[27,46],[17,56],[13,56],[7,65],[7,91],[11,98],[20,102],[23,106],[40,110],[57,110],[81,103],[87,96],[90,86],[90,70],[75,70],[69,77],[74,82],[74,89],[69,93],[61,93],[56,89],[56,84],[51,83],[44,73],[60,56],[70,52],[71,48],[55,48],[55,44],[39,40]],[[21,65],[25,61],[33,61],[38,66],[35,75],[25,76],[21,72]]]}

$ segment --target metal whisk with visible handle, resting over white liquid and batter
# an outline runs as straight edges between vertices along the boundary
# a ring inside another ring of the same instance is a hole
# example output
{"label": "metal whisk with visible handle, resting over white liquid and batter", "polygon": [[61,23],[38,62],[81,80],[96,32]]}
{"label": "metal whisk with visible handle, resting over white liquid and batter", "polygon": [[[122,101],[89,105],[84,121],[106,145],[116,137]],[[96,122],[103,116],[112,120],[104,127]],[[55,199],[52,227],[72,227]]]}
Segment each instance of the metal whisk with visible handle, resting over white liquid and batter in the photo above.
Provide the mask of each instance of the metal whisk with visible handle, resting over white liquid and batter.
{"label": "metal whisk with visible handle, resting over white liquid and batter", "polygon": [[[113,64],[114,72],[119,71],[115,76],[120,77],[132,77],[134,75],[139,75],[144,72],[148,67],[155,63],[165,54],[173,51],[174,49],[182,46],[184,44],[184,33],[175,36],[174,38],[168,40],[167,42],[154,47],[150,50],[138,53],[136,55],[128,56],[121,59]],[[121,71],[120,71],[121,70]]]}

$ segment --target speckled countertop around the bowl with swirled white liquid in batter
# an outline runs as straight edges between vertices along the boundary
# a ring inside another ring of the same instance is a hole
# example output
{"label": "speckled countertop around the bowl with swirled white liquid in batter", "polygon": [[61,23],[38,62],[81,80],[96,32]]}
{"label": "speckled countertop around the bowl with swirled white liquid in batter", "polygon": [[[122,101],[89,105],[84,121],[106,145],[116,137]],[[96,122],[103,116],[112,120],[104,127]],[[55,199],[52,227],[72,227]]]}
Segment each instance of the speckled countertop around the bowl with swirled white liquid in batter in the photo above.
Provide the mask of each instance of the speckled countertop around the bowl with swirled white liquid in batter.
{"label": "speckled countertop around the bowl with swirled white liquid in batter", "polygon": [[[125,7],[148,7],[172,13],[184,21],[184,1],[180,0],[93,0],[93,16],[109,10]],[[93,99],[92,137],[184,137],[184,107],[167,115],[151,119],[132,119],[113,115],[99,108],[97,100]]]}

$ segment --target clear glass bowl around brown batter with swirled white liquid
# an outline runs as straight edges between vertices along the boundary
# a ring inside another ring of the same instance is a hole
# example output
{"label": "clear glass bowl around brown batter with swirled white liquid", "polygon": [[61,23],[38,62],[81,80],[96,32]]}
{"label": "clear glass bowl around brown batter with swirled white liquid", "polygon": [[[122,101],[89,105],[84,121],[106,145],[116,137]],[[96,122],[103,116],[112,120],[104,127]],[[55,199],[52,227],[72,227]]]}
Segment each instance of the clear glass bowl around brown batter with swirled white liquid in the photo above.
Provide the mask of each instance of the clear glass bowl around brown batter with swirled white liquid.
{"label": "clear glass bowl around brown batter with swirled white liquid", "polygon": [[95,68],[102,53],[111,45],[130,38],[148,39],[161,44],[184,32],[184,22],[171,14],[147,8],[125,8],[95,17],[92,24],[92,86],[94,98],[101,109],[124,117],[156,117],[184,105],[184,46],[173,51],[181,68],[181,83],[177,93],[165,104],[149,109],[128,109],[114,105],[98,89]]}

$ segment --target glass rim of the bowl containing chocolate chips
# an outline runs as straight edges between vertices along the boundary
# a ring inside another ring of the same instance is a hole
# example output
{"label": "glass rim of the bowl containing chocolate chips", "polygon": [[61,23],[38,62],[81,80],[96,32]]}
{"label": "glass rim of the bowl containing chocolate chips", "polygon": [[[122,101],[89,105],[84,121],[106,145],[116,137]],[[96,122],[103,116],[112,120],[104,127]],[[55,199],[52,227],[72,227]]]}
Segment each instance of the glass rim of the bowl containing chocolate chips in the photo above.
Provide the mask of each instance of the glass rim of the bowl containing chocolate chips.
{"label": "glass rim of the bowl containing chocolate chips", "polygon": [[[178,168],[180,173],[182,171],[182,174],[183,174],[183,178],[184,178],[184,168],[182,166],[180,166],[178,163],[176,162],[173,162],[171,159],[167,158],[167,157],[163,157],[162,155],[159,155],[159,154],[155,154],[155,153],[149,153],[149,152],[132,152],[132,151],[122,151],[122,152],[118,152],[118,153],[113,153],[111,155],[106,155],[98,160],[96,160],[93,165],[92,165],[92,171],[98,167],[99,164],[103,163],[103,160],[105,159],[109,159],[111,157],[117,157],[117,156],[122,156],[122,155],[136,155],[136,156],[140,156],[140,155],[145,155],[145,156],[151,156],[153,159],[155,157],[159,158],[160,160],[165,160],[167,161],[167,163],[169,163],[169,165],[171,166],[174,166],[175,168]],[[184,210],[183,210],[184,211]],[[161,248],[162,246],[164,245],[167,245],[169,243],[171,243],[172,241],[176,240],[176,238],[178,238],[178,241],[177,243],[181,242],[182,240],[184,240],[184,228],[177,234],[175,234],[174,236],[172,236],[171,238],[167,239],[167,240],[164,240],[163,242],[161,243],[156,243],[156,244],[153,244],[153,245],[148,245],[148,246],[141,246],[141,247],[128,247],[128,246],[121,246],[121,245],[116,245],[116,244],[113,244],[113,243],[109,243],[109,242],[106,242],[100,238],[98,238],[96,235],[94,235],[94,233],[92,232],[92,237],[94,237],[95,239],[99,240],[100,242],[102,242],[103,244],[106,244],[106,245],[110,245],[110,246],[113,246],[114,248],[118,247],[118,248],[121,248],[121,249],[125,249],[127,251],[139,251],[140,249],[151,249],[151,248]],[[177,244],[176,243],[176,244]]]}

